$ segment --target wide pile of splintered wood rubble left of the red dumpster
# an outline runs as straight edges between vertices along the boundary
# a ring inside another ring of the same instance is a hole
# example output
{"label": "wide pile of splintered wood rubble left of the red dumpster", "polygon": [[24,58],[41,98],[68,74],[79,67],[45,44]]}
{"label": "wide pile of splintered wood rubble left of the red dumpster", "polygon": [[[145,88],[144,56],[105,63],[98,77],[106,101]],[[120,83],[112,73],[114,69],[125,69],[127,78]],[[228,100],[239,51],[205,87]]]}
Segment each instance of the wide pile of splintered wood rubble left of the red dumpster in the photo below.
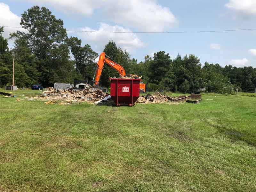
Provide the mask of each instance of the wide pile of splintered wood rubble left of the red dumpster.
{"label": "wide pile of splintered wood rubble left of the red dumpster", "polygon": [[42,95],[36,97],[36,99],[47,101],[46,104],[52,104],[59,102],[58,104],[69,104],[78,102],[91,102],[102,100],[107,97],[108,94],[100,91],[99,89],[52,89],[48,88],[42,93]]}

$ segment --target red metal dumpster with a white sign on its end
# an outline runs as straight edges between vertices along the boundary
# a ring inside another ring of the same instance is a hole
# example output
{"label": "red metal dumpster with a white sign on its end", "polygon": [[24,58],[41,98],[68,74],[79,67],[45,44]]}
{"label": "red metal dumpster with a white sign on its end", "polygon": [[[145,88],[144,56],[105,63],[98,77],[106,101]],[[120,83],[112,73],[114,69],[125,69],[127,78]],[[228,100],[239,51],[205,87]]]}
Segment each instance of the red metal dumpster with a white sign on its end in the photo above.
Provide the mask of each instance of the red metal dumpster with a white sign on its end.
{"label": "red metal dumpster with a white sign on its end", "polygon": [[110,78],[110,95],[116,106],[135,105],[140,96],[140,79]]}

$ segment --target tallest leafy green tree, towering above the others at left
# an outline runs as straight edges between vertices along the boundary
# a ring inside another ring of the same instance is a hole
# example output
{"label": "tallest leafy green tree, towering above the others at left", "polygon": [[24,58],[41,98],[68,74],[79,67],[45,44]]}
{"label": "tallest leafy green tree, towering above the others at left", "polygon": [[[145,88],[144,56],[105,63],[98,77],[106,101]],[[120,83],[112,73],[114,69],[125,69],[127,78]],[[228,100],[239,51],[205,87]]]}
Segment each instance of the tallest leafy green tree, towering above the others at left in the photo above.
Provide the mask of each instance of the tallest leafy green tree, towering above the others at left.
{"label": "tallest leafy green tree, towering above the others at left", "polygon": [[[52,86],[56,81],[69,81],[74,66],[69,60],[68,37],[63,21],[56,19],[49,9],[33,6],[21,14],[20,25],[27,31],[12,33],[11,38],[15,39],[15,47],[26,42],[35,56],[39,81],[44,86]],[[66,70],[65,76],[62,69]]]}

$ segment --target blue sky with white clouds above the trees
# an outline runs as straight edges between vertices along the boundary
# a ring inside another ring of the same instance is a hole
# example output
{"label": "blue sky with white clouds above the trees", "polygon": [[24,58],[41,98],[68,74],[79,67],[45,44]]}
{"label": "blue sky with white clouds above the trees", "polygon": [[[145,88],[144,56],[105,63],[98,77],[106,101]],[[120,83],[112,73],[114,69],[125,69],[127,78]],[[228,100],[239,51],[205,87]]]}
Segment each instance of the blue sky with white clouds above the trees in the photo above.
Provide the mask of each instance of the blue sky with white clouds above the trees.
{"label": "blue sky with white clouds above the trees", "polygon": [[[130,32],[68,32],[99,54],[113,40],[138,61],[165,51],[172,58],[195,54],[202,65],[207,61],[256,67],[256,30],[134,33],[256,28],[256,0],[4,0],[0,1],[0,25],[20,27],[21,14],[33,5],[50,9],[67,30]],[[8,37],[17,29],[4,30]]]}

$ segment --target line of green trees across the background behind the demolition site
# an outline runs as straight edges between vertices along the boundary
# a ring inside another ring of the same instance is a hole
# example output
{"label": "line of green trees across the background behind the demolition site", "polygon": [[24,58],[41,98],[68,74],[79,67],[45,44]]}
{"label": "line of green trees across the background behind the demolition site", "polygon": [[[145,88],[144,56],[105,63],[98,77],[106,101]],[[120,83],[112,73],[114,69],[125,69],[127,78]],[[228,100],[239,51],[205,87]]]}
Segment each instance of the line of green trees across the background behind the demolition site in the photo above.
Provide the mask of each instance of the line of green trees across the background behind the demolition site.
{"label": "line of green trees across the background behind the demolition site", "polygon": [[[8,39],[2,36],[0,28],[0,87],[12,82],[12,59],[15,54],[15,84],[30,87],[40,83],[44,87],[55,82],[72,83],[74,80],[86,80],[92,83],[99,53],[89,44],[82,45],[81,39],[68,37],[63,21],[52,12],[39,6],[21,14],[22,31],[10,34],[14,41],[12,50],[8,48]],[[138,62],[126,50],[110,40],[103,50],[115,62],[122,65],[126,74],[143,77],[148,90],[159,89],[195,92],[206,88],[208,92],[222,92],[223,87],[240,87],[244,92],[253,92],[256,87],[256,68],[237,68],[231,65],[200,63],[193,54],[171,59],[164,51],[145,56]],[[72,57],[70,56],[72,53]],[[109,77],[119,74],[105,65],[100,85],[109,86]]]}

